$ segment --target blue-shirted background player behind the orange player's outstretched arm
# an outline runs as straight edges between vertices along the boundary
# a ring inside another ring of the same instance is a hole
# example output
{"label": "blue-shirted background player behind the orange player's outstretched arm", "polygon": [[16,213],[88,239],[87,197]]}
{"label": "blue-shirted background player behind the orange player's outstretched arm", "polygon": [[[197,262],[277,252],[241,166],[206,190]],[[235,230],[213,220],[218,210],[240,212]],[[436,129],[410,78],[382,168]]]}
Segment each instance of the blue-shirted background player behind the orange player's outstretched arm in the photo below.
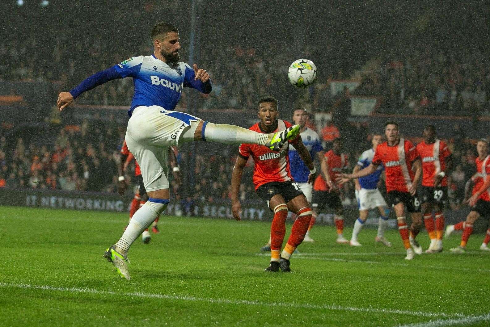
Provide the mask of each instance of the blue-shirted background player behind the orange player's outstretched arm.
{"label": "blue-shirted background player behind the orange player's outstretched arm", "polygon": [[[372,137],[371,142],[372,148],[363,152],[352,173],[366,168],[372,162],[376,147],[383,142],[383,136],[381,136],[381,134],[375,134]],[[383,165],[379,165],[372,174],[354,180],[356,185],[357,205],[359,207],[359,218],[357,218],[354,223],[354,229],[352,230],[352,237],[350,238],[350,245],[352,246],[362,246],[357,240],[357,235],[361,232],[366,219],[368,219],[368,211],[375,208],[377,208],[380,213],[378,220],[378,234],[376,235],[375,241],[381,242],[386,246],[392,246],[392,243],[385,238],[385,230],[388,227],[388,215],[390,214],[390,210],[387,209],[386,201],[378,189],[378,183],[383,169]]]}

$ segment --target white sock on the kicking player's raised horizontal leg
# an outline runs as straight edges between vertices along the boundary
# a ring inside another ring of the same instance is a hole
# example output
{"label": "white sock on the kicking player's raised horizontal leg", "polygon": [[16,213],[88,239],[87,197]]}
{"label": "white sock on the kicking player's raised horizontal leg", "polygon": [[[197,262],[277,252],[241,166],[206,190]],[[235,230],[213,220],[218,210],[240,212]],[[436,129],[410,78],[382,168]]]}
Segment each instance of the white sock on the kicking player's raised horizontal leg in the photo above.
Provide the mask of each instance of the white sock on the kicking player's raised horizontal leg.
{"label": "white sock on the kicking player's raised horizontal leg", "polygon": [[204,122],[202,129],[204,131],[203,140],[224,144],[247,143],[266,145],[272,140],[272,136],[275,134],[257,133],[240,126],[213,124],[210,122]]}

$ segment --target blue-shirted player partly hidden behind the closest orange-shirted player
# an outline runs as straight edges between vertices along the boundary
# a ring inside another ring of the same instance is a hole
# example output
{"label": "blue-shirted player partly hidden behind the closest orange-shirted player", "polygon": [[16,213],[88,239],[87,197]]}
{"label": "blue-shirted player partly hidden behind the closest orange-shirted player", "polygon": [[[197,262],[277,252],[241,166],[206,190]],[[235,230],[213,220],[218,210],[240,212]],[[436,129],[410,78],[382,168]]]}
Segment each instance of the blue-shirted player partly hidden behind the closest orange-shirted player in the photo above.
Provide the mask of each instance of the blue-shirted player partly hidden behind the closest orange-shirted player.
{"label": "blue-shirted player partly hidden behind the closest orange-shirted player", "polygon": [[[320,165],[323,160],[323,147],[321,146],[321,139],[317,132],[312,130],[311,128],[306,127],[306,123],[308,122],[308,113],[305,108],[298,107],[294,109],[293,112],[293,121],[294,124],[300,126],[300,135],[303,144],[306,146],[308,151],[310,152],[312,160],[315,160],[315,156],[318,157]],[[311,205],[311,198],[313,193],[313,184],[308,183],[308,176],[310,174],[310,169],[303,162],[301,157],[298,154],[298,151],[294,148],[293,145],[289,145],[289,169],[291,175],[293,176],[294,182],[301,189],[303,194],[306,196],[308,203]],[[310,225],[308,226],[308,231],[305,234],[304,242],[313,242],[313,238],[310,236],[310,230],[315,224],[315,220],[317,218],[317,214],[314,212],[311,218]],[[266,243],[261,251],[269,252],[270,251],[270,242],[271,238],[269,237],[269,242]]]}

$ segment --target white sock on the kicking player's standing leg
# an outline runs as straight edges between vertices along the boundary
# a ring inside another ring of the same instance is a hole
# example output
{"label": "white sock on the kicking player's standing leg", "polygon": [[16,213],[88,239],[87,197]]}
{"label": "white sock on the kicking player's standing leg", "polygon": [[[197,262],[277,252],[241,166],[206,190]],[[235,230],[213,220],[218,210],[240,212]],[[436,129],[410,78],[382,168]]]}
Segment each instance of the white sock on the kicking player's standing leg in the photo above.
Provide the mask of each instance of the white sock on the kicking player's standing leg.
{"label": "white sock on the kicking player's standing leg", "polygon": [[125,256],[129,247],[155,220],[160,213],[167,208],[169,200],[152,199],[135,212],[129,222],[123,236],[116,243],[116,251]]}

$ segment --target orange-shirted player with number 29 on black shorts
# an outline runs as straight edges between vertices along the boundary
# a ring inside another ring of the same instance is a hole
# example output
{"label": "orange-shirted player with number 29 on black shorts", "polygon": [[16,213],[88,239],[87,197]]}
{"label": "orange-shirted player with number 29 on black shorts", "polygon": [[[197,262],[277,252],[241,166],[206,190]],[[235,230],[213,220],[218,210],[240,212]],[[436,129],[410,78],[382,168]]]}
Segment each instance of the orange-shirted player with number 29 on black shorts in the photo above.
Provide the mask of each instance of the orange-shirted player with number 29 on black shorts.
{"label": "orange-shirted player with number 29 on black shorts", "polygon": [[[422,213],[425,229],[430,237],[426,253],[442,251],[444,215],[442,209],[447,201],[447,171],[451,168],[451,151],[444,141],[436,139],[436,127],[427,125],[424,140],[417,144],[417,152],[422,160]],[[436,225],[432,211],[435,211]]]}

